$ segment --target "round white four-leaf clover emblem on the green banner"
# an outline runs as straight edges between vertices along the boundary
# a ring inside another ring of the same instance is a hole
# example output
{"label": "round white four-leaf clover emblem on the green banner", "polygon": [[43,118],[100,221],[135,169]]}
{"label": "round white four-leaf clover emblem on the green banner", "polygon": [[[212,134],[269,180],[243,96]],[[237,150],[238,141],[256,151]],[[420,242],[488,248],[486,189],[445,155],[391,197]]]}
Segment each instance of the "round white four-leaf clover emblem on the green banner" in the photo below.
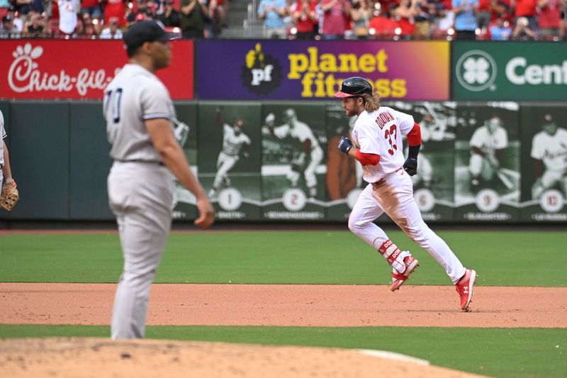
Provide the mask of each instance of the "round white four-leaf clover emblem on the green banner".
{"label": "round white four-leaf clover emblem on the green banner", "polygon": [[465,52],[456,62],[456,79],[469,91],[495,90],[498,69],[490,54],[482,50]]}

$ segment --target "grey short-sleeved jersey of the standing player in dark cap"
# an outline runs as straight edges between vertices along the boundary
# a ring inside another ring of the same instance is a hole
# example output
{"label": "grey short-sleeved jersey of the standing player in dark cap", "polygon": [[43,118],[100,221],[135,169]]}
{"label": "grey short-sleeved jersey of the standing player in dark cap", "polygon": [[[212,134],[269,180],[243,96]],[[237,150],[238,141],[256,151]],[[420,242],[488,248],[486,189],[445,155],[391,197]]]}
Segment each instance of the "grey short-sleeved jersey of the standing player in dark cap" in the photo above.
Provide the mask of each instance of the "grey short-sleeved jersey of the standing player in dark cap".
{"label": "grey short-sleeved jersey of the standing player in dark cap", "polygon": [[174,118],[175,109],[169,91],[155,74],[140,65],[125,65],[106,87],[103,112],[114,160],[162,161],[144,121]]}

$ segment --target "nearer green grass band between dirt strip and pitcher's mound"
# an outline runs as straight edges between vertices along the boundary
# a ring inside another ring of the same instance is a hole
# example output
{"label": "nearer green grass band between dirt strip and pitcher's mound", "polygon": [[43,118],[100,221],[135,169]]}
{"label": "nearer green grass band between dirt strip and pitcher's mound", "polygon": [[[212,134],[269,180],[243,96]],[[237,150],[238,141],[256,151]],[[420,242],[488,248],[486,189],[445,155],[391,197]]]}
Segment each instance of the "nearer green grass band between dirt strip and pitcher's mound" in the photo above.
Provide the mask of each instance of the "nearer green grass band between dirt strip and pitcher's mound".
{"label": "nearer green grass band between dirt strip and pitcher's mound", "polygon": [[[106,326],[6,326],[0,338],[108,338]],[[147,338],[391,350],[490,377],[565,377],[565,328],[153,326]]]}

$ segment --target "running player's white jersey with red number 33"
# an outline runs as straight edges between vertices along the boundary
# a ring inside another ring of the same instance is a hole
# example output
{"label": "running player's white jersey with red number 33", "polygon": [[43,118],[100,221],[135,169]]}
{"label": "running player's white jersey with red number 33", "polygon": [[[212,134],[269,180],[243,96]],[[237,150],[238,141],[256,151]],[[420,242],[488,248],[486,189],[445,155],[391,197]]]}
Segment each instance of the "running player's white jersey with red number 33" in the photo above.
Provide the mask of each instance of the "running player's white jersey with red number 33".
{"label": "running player's white jersey with red number 33", "polygon": [[402,135],[408,135],[414,124],[409,114],[386,106],[371,113],[360,113],[352,129],[352,141],[361,152],[380,155],[378,165],[362,167],[362,177],[366,182],[378,182],[403,166]]}

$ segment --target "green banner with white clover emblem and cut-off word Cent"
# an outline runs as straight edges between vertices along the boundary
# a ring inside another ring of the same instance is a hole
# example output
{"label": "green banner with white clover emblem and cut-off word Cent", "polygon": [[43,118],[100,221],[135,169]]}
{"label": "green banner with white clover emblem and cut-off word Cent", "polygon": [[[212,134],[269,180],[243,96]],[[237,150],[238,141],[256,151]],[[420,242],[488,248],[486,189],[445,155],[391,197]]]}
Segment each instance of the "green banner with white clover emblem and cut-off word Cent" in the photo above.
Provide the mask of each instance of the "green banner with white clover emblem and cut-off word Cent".
{"label": "green banner with white clover emblem and cut-off word Cent", "polygon": [[452,48],[456,100],[567,100],[564,43],[457,41]]}

